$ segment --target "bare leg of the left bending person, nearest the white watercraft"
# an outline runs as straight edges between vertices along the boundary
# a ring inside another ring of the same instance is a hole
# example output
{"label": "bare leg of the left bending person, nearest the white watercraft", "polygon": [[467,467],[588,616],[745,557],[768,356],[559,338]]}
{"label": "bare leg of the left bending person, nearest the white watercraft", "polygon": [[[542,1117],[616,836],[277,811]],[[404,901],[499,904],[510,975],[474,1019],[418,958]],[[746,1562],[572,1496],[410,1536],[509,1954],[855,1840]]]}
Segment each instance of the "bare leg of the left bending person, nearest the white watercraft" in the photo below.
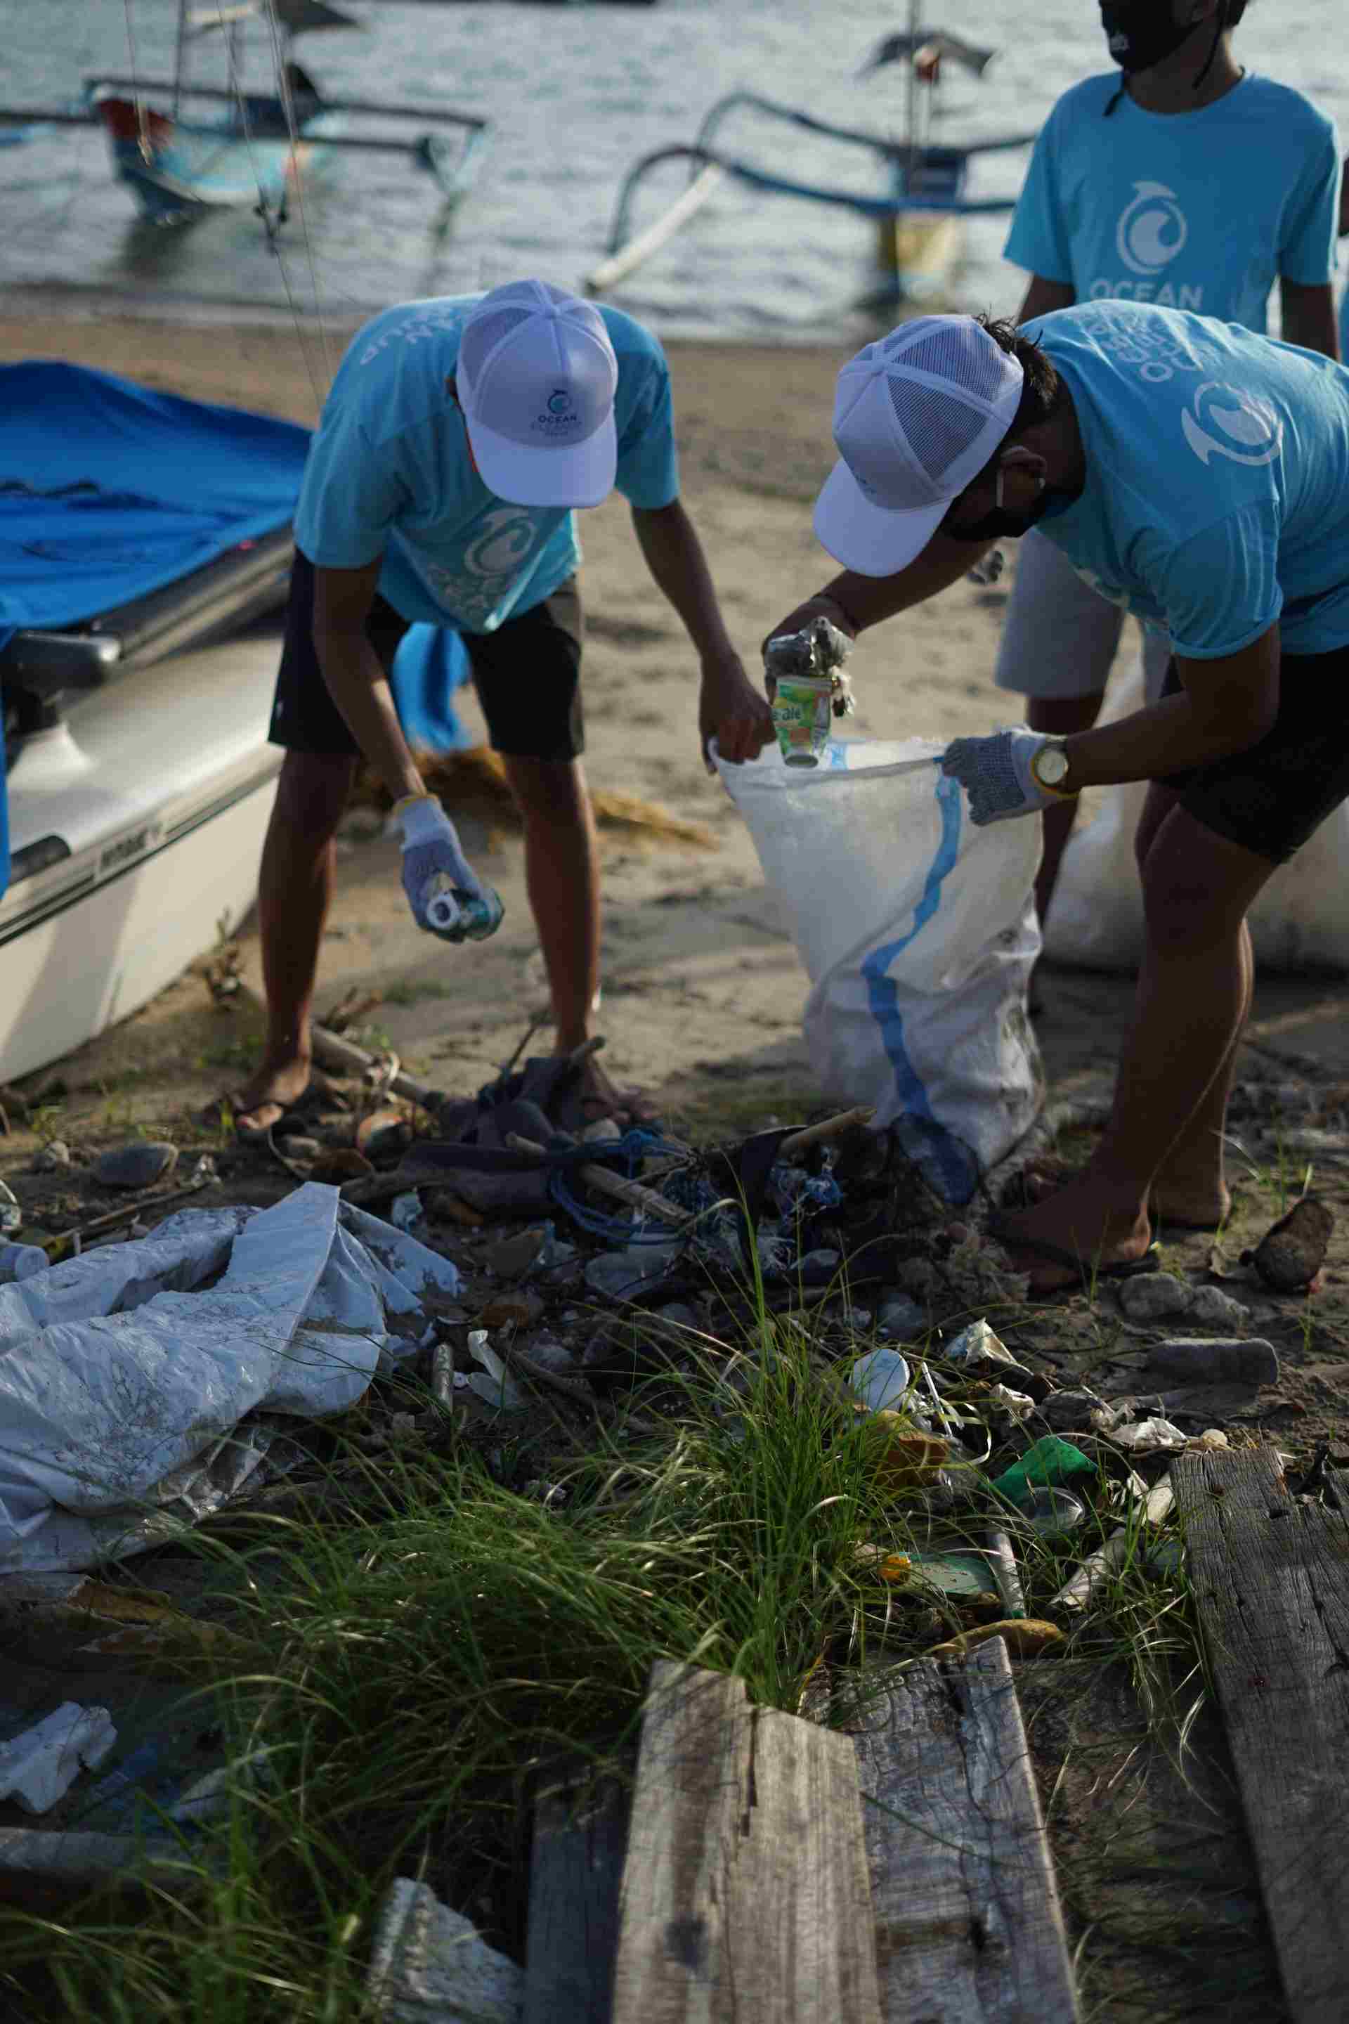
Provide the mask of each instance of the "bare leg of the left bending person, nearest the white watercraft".
{"label": "bare leg of the left bending person, nearest the white watercraft", "polygon": [[287,753],[263,844],[257,921],[267,992],[267,1044],[257,1075],[239,1093],[237,1123],[267,1131],[309,1081],[309,1018],[324,923],[332,905],[334,836],[354,759]]}

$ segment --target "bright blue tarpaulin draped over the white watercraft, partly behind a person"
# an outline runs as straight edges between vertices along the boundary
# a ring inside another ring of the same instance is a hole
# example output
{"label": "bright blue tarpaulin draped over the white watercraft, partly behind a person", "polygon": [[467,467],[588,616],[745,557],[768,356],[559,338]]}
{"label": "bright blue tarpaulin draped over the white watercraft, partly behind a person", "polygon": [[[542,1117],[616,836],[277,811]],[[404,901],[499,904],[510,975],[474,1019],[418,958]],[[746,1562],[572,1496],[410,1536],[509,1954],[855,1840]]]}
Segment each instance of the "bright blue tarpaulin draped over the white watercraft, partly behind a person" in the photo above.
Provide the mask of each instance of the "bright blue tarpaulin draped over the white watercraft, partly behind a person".
{"label": "bright blue tarpaulin draped over the white watercraft, partly behind a person", "polygon": [[[271,415],[57,360],[0,366],[0,650],[18,627],[79,625],[287,526],[307,449],[307,429]],[[467,672],[457,634],[413,627],[394,670],[411,743],[469,743],[449,700]],[[0,893],[8,868],[0,789]]]}

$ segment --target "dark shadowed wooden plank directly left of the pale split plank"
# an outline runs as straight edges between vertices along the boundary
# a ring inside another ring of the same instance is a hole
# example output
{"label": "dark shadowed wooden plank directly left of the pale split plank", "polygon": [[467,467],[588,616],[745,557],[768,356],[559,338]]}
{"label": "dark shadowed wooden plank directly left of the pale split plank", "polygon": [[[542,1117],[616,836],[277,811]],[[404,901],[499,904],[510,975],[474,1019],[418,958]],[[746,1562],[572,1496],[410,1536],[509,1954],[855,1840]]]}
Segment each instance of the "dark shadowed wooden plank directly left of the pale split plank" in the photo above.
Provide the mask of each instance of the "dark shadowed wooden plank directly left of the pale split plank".
{"label": "dark shadowed wooden plank directly left of the pale split plank", "polygon": [[627,1797],[582,1759],[540,1781],[522,2024],[609,2024]]}

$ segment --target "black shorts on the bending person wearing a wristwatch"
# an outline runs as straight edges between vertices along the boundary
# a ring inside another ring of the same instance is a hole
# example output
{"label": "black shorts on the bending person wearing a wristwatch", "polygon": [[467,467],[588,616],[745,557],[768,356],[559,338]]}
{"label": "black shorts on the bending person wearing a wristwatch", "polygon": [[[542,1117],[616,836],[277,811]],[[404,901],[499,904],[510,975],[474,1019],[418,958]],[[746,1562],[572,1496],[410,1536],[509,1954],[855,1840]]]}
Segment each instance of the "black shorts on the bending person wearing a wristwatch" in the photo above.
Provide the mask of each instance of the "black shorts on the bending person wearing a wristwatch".
{"label": "black shorts on the bending person wearing a wristwatch", "polygon": [[[1171,662],[1161,692],[1179,690]],[[1159,785],[1205,830],[1286,864],[1349,799],[1349,648],[1280,654],[1274,729],[1244,753],[1167,773]]]}

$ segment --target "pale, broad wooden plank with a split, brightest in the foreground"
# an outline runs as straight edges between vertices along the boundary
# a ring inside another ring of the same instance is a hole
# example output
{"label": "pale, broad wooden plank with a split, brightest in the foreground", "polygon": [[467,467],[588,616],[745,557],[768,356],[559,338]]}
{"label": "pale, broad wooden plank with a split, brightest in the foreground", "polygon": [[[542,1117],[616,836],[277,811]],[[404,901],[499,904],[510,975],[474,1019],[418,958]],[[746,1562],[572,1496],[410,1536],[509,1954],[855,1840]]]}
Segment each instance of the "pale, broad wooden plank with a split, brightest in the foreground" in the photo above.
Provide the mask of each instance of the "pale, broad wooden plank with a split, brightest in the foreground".
{"label": "pale, broad wooden plank with a split, brightest in the foreground", "polygon": [[880,2024],[847,1737],[653,1668],[613,2024]]}

